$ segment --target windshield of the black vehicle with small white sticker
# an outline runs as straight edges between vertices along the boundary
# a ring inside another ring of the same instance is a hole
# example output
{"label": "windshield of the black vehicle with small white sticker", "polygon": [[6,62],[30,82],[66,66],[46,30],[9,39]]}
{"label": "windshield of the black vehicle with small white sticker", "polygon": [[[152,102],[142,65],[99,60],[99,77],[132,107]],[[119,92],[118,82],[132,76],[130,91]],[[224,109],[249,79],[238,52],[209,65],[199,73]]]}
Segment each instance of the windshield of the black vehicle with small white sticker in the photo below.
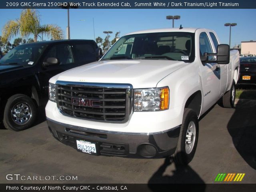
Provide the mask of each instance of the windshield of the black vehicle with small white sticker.
{"label": "windshield of the black vehicle with small white sticker", "polygon": [[0,65],[17,64],[32,65],[42,54],[47,45],[42,44],[23,44],[17,46],[6,53],[0,60]]}

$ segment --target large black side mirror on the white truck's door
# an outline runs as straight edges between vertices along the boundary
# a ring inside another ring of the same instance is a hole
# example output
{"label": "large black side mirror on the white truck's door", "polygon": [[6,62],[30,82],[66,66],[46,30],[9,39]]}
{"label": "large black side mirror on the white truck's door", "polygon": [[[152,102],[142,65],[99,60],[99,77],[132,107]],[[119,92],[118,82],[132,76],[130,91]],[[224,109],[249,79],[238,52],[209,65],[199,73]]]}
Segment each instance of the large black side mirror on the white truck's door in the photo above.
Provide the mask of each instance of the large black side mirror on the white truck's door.
{"label": "large black side mirror on the white truck's door", "polygon": [[[217,56],[217,60],[208,60],[208,56]],[[204,53],[200,56],[202,62],[218,63],[218,64],[229,64],[230,50],[229,45],[219,44],[217,46],[217,53]]]}

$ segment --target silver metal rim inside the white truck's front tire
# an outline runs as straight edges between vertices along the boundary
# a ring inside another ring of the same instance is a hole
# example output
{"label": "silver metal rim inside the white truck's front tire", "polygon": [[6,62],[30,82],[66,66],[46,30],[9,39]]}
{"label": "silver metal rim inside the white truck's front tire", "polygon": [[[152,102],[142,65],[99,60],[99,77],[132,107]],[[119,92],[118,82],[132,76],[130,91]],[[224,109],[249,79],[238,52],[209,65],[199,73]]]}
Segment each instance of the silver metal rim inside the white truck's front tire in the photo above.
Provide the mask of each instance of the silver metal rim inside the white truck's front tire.
{"label": "silver metal rim inside the white truck's front tire", "polygon": [[186,141],[185,141],[185,149],[186,153],[190,154],[193,150],[195,144],[195,136],[196,136],[196,125],[193,121],[190,121],[188,124],[188,129],[186,132]]}

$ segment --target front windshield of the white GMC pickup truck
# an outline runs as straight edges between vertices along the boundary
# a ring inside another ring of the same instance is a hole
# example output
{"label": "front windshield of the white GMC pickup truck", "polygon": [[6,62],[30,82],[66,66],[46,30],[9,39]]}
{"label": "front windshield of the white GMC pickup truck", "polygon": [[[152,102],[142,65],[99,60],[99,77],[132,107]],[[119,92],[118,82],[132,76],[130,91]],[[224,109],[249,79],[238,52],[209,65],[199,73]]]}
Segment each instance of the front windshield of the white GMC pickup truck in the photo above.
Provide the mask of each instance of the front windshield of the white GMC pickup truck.
{"label": "front windshield of the white GMC pickup truck", "polygon": [[120,38],[101,60],[161,59],[194,61],[194,34],[158,32],[132,34]]}

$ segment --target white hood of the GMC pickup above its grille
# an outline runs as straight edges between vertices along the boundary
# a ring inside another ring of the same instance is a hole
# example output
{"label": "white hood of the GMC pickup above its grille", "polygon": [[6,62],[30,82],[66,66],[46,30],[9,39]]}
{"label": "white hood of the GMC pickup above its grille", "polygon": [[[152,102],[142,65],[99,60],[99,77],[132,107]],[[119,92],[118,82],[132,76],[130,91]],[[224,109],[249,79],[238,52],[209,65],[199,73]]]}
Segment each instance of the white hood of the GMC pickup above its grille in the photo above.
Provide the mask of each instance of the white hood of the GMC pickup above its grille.
{"label": "white hood of the GMC pickup above its grille", "polygon": [[108,60],[80,66],[50,79],[71,82],[126,83],[134,88],[151,88],[164,77],[186,66],[172,60]]}

